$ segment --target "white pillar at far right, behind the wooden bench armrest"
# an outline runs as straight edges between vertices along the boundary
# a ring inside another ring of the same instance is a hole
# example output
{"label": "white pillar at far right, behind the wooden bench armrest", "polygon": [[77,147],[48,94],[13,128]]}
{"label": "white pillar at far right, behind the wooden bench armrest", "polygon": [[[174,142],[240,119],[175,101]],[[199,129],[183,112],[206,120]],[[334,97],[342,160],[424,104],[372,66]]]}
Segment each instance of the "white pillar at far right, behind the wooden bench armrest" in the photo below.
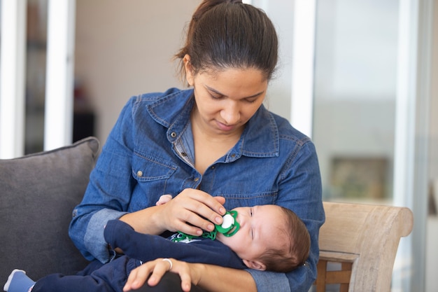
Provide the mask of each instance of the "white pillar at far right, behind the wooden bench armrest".
{"label": "white pillar at far right, behind the wooden bench armrest", "polygon": [[399,6],[393,197],[414,212],[414,230],[400,240],[393,291],[425,291],[433,2],[400,0]]}

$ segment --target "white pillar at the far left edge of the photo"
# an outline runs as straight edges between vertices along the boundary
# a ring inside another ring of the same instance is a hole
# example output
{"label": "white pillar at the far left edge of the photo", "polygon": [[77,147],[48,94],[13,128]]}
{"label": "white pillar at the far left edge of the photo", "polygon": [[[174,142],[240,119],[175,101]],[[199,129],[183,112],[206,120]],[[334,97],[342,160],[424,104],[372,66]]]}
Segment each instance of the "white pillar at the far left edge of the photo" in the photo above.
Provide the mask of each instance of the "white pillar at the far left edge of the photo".
{"label": "white pillar at the far left edge of the photo", "polygon": [[26,0],[1,1],[1,159],[24,154],[26,4]]}

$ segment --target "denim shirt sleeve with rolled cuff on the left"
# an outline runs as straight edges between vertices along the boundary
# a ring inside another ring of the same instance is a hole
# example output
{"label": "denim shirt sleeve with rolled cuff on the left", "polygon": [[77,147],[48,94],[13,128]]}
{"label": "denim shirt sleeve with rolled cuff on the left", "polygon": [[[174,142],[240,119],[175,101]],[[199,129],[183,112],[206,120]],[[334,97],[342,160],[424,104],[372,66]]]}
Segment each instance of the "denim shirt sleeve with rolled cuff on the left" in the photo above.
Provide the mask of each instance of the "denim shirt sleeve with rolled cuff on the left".
{"label": "denim shirt sleeve with rolled cuff on the left", "polygon": [[111,260],[104,226],[108,220],[120,218],[129,211],[130,197],[122,194],[132,192],[132,168],[126,158],[132,156],[129,127],[132,126],[134,104],[135,99],[132,99],[122,109],[90,174],[83,201],[73,210],[69,235],[88,260],[97,258],[101,263]]}

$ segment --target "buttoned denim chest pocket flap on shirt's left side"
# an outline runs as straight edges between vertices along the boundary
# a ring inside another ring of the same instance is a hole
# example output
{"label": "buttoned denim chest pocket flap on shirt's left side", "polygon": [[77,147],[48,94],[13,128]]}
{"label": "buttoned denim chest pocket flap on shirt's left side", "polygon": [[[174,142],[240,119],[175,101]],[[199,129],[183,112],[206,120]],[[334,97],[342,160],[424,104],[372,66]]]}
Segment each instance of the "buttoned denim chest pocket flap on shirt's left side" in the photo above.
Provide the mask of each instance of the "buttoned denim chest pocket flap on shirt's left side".
{"label": "buttoned denim chest pocket flap on shirt's left side", "polygon": [[169,179],[176,172],[176,169],[178,166],[167,160],[155,157],[150,153],[134,151],[132,176],[139,183]]}

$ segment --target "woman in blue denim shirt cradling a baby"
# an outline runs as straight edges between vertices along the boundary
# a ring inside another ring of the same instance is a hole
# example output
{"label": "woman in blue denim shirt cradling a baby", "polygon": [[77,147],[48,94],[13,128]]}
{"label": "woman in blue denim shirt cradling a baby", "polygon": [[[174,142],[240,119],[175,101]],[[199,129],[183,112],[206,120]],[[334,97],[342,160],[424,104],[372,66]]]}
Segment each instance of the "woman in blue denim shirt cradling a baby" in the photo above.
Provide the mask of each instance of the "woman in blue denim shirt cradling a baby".
{"label": "woman in blue denim shirt cradling a baby", "polygon": [[[306,265],[281,274],[174,261],[171,272],[207,291],[309,289],[324,221],[320,173],[311,140],[262,105],[277,54],[274,26],[259,9],[241,1],[199,5],[176,55],[192,89],[129,100],[73,211],[69,233],[86,258],[115,256],[104,241],[111,219],[138,232],[200,235],[222,222],[225,209],[278,204],[309,230]],[[164,194],[174,198],[155,206]],[[155,285],[169,263],[155,260],[141,271],[149,267]]]}

